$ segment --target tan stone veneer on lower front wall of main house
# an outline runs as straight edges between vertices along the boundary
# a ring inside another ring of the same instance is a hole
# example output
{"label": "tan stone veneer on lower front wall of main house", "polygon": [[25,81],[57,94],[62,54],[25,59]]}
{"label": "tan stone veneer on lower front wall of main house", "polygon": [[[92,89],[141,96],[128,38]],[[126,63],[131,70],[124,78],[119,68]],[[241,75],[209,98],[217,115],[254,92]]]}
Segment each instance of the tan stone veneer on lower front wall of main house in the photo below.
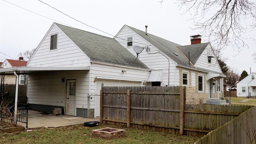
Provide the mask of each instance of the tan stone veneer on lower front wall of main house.
{"label": "tan stone veneer on lower front wall of main house", "polygon": [[[214,97],[218,97],[218,93],[213,92]],[[222,93],[219,93],[220,99]],[[205,104],[209,98],[209,92],[196,92],[196,87],[186,87],[186,103]]]}

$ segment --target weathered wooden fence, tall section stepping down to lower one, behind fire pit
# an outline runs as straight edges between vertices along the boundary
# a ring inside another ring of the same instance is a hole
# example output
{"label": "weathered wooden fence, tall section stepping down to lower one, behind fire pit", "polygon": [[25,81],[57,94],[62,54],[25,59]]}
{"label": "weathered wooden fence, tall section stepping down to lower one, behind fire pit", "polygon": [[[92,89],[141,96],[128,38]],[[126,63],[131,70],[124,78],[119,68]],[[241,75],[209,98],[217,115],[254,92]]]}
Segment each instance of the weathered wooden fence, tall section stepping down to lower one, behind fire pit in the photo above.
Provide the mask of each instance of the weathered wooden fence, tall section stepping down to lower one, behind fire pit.
{"label": "weathered wooden fence, tall section stepping down to lower one, behind fire pit", "polygon": [[100,122],[204,136],[251,106],[186,104],[183,86],[103,86]]}

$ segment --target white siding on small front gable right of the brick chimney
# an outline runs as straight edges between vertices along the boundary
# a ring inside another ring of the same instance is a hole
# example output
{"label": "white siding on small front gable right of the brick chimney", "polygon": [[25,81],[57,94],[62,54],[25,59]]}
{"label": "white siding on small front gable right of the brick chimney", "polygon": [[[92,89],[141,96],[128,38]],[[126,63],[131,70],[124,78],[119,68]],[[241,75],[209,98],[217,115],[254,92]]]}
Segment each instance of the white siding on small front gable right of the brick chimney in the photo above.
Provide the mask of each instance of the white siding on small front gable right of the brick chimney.
{"label": "white siding on small front gable right of the brick chimney", "polygon": [[201,56],[198,58],[195,67],[203,68],[218,73],[222,73],[219,63],[216,58],[211,58],[211,63],[208,62],[208,53],[212,52],[210,44],[205,48]]}

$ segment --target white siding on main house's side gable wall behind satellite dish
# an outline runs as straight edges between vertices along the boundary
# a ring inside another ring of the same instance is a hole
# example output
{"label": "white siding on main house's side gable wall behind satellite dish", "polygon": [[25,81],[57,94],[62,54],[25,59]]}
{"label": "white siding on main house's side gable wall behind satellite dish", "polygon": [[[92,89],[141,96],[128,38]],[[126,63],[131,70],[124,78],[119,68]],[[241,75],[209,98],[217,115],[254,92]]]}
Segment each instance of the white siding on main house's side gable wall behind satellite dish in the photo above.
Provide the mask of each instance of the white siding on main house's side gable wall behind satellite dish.
{"label": "white siding on main house's side gable wall behind satellite dish", "polygon": [[[145,45],[148,45],[150,48],[150,53],[155,54],[148,54],[146,50],[144,49],[142,53],[139,55],[139,59],[147,65],[150,69],[153,70],[163,70],[163,81],[161,82],[161,86],[168,85],[168,59],[163,56],[161,53],[156,53],[156,49],[151,46],[147,41],[142,39],[141,36],[138,36],[136,33],[134,33],[132,30],[130,30],[128,27],[123,27],[122,30],[118,33],[117,37],[115,39],[127,50],[129,50],[133,55],[136,56],[136,53],[133,50],[133,47],[127,47],[127,37],[133,36],[133,42],[134,46],[140,46],[145,47]],[[121,38],[121,39],[120,39]],[[145,44],[145,45],[144,45]],[[176,70],[177,72],[177,70]],[[179,79],[179,75],[176,76],[176,79]],[[149,84],[149,83],[148,83]],[[177,84],[177,81],[176,81]],[[178,83],[179,85],[179,83]],[[177,85],[177,86],[178,86]],[[175,86],[175,63],[170,59],[170,86]]]}

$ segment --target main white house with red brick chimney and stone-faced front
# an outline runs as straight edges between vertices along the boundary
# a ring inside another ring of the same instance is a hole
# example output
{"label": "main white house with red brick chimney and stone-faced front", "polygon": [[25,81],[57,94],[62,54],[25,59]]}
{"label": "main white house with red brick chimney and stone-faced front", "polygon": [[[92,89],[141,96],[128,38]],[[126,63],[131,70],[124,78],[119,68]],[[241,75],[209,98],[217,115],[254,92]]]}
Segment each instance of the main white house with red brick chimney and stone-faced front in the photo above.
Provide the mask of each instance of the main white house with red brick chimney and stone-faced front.
{"label": "main white house with red brick chimney and stone-faced front", "polygon": [[133,55],[133,46],[145,48],[139,59],[152,69],[147,86],[186,86],[187,103],[223,97],[225,75],[209,42],[201,43],[201,36],[196,35],[191,36],[191,45],[181,46],[146,31],[124,25],[114,38]]}

